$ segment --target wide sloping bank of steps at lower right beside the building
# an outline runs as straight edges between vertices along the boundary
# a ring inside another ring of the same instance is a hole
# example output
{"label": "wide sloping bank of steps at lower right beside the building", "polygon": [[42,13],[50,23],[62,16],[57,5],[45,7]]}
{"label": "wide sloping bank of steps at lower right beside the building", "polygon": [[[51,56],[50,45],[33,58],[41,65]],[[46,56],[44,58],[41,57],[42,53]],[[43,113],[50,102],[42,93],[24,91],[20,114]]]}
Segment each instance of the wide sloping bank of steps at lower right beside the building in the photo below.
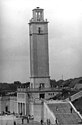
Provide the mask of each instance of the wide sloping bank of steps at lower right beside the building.
{"label": "wide sloping bank of steps at lower right beside the building", "polygon": [[48,107],[58,119],[58,125],[78,125],[81,123],[81,118],[73,107],[71,113],[71,104],[68,102],[48,104]]}

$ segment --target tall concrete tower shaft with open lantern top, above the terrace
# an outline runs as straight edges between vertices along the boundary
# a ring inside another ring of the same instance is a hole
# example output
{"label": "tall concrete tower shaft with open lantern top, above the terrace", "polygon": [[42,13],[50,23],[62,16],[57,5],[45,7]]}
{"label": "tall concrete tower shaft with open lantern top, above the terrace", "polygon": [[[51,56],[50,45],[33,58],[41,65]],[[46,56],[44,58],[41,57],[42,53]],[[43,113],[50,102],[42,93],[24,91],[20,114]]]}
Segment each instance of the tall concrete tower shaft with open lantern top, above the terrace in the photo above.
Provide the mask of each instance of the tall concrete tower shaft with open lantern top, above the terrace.
{"label": "tall concrete tower shaft with open lantern top, above the terrace", "polygon": [[48,22],[44,10],[33,9],[29,22],[31,88],[49,88]]}

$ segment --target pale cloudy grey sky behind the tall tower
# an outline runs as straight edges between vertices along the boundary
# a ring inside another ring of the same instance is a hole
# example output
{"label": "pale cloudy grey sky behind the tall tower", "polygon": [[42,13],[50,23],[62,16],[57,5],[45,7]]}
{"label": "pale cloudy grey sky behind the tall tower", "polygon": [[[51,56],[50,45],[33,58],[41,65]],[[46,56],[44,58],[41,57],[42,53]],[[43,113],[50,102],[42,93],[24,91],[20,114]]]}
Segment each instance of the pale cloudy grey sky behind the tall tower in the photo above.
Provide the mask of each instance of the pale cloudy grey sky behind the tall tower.
{"label": "pale cloudy grey sky behind the tall tower", "polygon": [[30,81],[29,20],[48,19],[50,78],[82,76],[82,0],[0,0],[0,82]]}

